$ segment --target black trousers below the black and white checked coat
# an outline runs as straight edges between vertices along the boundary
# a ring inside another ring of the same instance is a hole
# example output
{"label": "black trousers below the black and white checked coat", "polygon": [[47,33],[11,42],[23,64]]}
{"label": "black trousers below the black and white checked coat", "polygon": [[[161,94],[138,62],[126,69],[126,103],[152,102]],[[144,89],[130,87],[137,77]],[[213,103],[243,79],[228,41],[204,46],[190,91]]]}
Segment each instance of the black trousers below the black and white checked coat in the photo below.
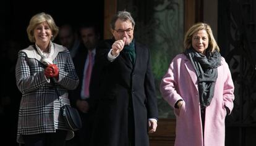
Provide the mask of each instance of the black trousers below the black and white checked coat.
{"label": "black trousers below the black and white checked coat", "polygon": [[67,131],[57,130],[55,133],[22,135],[25,146],[64,146]]}

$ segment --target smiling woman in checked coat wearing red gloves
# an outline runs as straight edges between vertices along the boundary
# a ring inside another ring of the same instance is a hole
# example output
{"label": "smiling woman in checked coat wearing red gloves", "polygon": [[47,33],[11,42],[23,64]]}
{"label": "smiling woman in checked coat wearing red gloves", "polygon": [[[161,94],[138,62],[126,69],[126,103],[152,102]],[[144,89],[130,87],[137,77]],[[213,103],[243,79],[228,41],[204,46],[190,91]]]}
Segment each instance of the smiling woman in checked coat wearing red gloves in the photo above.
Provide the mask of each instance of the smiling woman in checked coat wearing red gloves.
{"label": "smiling woman in checked coat wearing red gloves", "polygon": [[34,15],[27,33],[35,44],[19,52],[16,65],[17,86],[22,92],[17,142],[65,145],[74,132],[67,129],[60,107],[70,104],[68,90],[77,87],[79,78],[69,51],[51,42],[58,34],[51,15]]}

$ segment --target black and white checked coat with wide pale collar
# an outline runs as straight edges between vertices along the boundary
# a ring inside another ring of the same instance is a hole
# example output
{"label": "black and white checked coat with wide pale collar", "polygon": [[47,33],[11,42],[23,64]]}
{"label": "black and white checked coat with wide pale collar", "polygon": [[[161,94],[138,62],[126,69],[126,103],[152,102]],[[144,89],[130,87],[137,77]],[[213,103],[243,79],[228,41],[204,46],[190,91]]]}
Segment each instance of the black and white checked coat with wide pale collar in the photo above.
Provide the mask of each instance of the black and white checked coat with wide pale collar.
{"label": "black and white checked coat with wide pale collar", "polygon": [[[23,143],[22,134],[40,134],[64,129],[66,139],[72,139],[74,132],[66,128],[59,114],[61,102],[70,104],[68,90],[73,90],[79,83],[69,51],[63,46],[53,43],[53,63],[59,68],[59,80],[46,80],[45,65],[34,46],[19,52],[15,75],[17,86],[22,92],[20,101],[17,142]],[[54,89],[58,89],[60,97]]]}

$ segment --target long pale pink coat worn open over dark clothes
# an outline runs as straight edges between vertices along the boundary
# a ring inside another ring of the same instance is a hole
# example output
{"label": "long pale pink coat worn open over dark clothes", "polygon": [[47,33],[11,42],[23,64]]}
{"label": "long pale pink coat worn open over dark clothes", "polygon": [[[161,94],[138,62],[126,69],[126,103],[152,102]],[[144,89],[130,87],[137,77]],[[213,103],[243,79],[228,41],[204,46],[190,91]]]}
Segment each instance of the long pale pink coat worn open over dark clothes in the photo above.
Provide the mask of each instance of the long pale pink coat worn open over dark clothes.
{"label": "long pale pink coat worn open over dark clothes", "polygon": [[197,75],[186,55],[177,55],[164,75],[160,91],[171,107],[177,100],[184,103],[181,110],[174,108],[176,115],[175,146],[224,146],[226,109],[233,109],[234,84],[228,64],[221,57],[218,78],[211,104],[205,110],[205,134],[202,133]]}

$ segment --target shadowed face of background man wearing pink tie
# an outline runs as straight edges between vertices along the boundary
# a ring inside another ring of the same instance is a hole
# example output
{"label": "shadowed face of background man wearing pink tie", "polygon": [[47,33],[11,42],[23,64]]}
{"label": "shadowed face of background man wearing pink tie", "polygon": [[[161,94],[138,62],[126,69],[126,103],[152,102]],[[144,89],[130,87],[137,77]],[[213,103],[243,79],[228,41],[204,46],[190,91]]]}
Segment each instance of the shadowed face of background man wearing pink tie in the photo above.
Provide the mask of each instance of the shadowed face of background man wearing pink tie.
{"label": "shadowed face of background man wearing pink tie", "polygon": [[98,43],[99,36],[95,34],[93,28],[82,28],[80,30],[81,38],[83,44],[88,50],[92,50],[96,47]]}

